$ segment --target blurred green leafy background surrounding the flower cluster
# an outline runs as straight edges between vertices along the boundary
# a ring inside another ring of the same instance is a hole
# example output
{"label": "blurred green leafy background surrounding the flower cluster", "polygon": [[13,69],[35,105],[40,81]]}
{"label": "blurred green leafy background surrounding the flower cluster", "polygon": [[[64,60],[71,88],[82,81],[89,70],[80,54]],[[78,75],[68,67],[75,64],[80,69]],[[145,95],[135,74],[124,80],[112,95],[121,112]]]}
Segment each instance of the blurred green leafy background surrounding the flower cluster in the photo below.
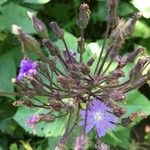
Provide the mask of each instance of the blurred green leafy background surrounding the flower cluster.
{"label": "blurred green leafy background surrounding the flower cluster", "polygon": [[[86,0],[91,9],[91,20],[85,31],[86,42],[93,54],[98,54],[103,41],[106,27],[106,0]],[[15,77],[20,60],[23,55],[19,41],[11,33],[12,24],[21,26],[26,33],[32,34],[38,39],[35,30],[27,16],[27,11],[32,11],[48,26],[50,21],[57,21],[66,31],[67,42],[71,49],[74,48],[75,36],[79,36],[76,18],[80,0],[0,0],[0,92],[13,92],[14,87],[11,78]],[[143,46],[150,54],[150,1],[149,0],[120,0],[119,16],[126,19],[133,13],[141,11],[143,17],[137,22],[135,30],[122,53],[130,52],[137,46]],[[71,33],[71,34],[69,34]],[[49,34],[56,41],[56,36],[49,28]],[[69,40],[69,41],[68,41]],[[60,45],[61,46],[61,45]],[[85,57],[89,54],[87,53]],[[33,59],[37,59],[34,55]],[[85,58],[86,59],[86,58]],[[129,66],[130,68],[130,66]],[[127,68],[127,69],[129,69]],[[141,94],[142,93],[142,94]],[[43,150],[54,149],[57,139],[54,137],[33,136],[22,128],[21,122],[24,114],[18,113],[16,107],[12,106],[12,96],[0,97],[0,150]],[[136,111],[146,109],[150,114],[150,88],[148,84],[142,86],[138,91],[129,93],[128,109]],[[20,115],[20,120],[17,120]],[[91,135],[92,137],[92,135]],[[149,150],[150,149],[150,117],[138,120],[130,128],[118,127],[112,133],[107,134],[103,141],[111,145],[114,150]],[[91,149],[93,150],[93,141]],[[71,149],[72,144],[68,144]]]}

